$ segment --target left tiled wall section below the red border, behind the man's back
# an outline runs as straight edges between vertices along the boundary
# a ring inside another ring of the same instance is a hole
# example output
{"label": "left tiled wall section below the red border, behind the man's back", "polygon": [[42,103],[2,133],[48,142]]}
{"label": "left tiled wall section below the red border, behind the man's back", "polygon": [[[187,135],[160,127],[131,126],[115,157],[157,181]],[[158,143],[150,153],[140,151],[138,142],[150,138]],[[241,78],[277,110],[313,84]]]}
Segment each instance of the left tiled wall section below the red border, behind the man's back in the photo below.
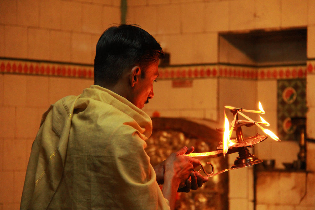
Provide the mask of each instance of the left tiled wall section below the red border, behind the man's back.
{"label": "left tiled wall section below the red border, behind the man's back", "polygon": [[31,145],[43,112],[92,79],[0,74],[0,209],[19,209]]}

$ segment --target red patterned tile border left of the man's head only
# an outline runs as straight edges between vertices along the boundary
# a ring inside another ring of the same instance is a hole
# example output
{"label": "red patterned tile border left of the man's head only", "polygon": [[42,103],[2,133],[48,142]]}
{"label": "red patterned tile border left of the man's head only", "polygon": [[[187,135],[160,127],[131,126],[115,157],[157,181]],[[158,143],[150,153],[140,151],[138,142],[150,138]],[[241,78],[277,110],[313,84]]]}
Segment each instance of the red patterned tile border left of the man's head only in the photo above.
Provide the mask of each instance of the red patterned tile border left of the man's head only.
{"label": "red patterned tile border left of the man's head only", "polygon": [[0,59],[0,73],[94,78],[93,66],[6,59]]}

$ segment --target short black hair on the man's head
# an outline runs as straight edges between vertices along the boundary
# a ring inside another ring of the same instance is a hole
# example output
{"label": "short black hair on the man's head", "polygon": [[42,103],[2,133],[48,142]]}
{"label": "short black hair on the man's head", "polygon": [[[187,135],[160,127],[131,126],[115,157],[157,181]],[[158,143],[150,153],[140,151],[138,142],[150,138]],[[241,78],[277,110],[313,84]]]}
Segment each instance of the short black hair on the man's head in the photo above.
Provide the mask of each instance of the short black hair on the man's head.
{"label": "short black hair on the man's head", "polygon": [[146,68],[147,64],[163,57],[160,44],[145,30],[125,24],[112,26],[96,44],[94,84],[114,85],[123,71],[135,65]]}

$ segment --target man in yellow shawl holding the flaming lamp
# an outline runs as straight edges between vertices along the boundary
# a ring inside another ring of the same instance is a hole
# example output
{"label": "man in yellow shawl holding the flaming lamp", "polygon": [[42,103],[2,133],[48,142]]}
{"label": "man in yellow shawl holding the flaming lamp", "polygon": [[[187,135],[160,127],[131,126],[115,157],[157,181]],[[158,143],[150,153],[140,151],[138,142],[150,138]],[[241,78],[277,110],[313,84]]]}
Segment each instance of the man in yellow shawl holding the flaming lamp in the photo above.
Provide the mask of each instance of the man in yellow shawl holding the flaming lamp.
{"label": "man in yellow shawl holding the flaming lamp", "polygon": [[[179,190],[208,179],[181,148],[155,168],[144,148],[152,133],[144,104],[163,51],[136,26],[107,29],[96,46],[95,85],[57,101],[32,145],[21,209],[174,209]],[[160,190],[158,184],[163,184]]]}

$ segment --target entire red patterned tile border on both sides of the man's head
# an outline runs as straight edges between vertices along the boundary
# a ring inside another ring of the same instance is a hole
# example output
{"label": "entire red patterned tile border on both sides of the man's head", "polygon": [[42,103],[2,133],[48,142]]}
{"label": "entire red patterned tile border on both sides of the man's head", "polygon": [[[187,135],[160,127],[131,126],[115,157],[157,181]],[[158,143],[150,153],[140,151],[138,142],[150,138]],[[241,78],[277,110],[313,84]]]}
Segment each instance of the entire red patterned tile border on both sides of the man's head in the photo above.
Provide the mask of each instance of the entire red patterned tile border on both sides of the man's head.
{"label": "entire red patterned tile border on both sides of the man's head", "polygon": [[[0,73],[94,78],[92,65],[59,64],[39,61],[0,59]],[[160,67],[159,79],[232,77],[242,79],[294,79],[315,73],[315,60],[305,65],[244,67],[233,65],[195,65]]]}

